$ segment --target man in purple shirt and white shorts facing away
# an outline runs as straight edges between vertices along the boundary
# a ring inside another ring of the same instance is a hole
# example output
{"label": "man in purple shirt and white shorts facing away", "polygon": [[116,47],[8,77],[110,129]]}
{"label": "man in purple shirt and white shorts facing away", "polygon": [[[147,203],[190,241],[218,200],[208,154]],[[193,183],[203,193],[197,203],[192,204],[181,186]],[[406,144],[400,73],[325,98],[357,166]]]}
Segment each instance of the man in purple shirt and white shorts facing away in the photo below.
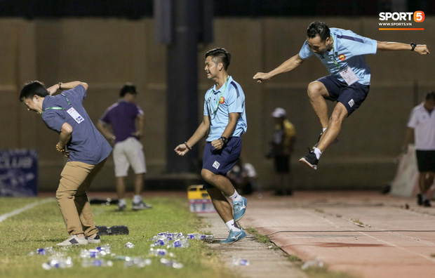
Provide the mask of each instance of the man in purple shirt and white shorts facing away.
{"label": "man in purple shirt and white shorts facing away", "polygon": [[[145,155],[139,139],[145,127],[144,112],[135,104],[138,92],[133,84],[126,84],[119,93],[120,99],[107,108],[98,121],[98,128],[105,137],[114,144],[113,158],[116,176],[116,192],[118,194],[118,209],[126,209],[125,178],[131,166],[135,172],[135,195],[133,210],[151,209],[152,206],[142,201],[140,193],[147,173]],[[136,129],[136,121],[138,129]],[[112,126],[113,133],[109,130]]]}

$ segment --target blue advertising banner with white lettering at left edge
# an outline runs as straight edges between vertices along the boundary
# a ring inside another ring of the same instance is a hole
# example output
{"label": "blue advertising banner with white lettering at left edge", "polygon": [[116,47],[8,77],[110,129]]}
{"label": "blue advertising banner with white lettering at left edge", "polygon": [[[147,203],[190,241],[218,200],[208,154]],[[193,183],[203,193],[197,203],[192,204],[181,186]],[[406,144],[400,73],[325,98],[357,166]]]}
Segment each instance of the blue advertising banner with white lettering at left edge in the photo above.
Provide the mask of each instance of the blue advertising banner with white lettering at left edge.
{"label": "blue advertising banner with white lettering at left edge", "polygon": [[0,196],[38,194],[38,152],[0,150]]}

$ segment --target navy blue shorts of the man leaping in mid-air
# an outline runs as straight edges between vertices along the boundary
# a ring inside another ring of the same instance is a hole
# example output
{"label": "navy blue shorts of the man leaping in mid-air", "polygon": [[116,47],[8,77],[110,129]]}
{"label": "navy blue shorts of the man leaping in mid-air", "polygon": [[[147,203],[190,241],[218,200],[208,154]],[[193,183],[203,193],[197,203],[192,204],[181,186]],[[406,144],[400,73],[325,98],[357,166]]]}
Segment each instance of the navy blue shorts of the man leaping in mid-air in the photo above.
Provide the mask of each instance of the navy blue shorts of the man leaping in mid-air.
{"label": "navy blue shorts of the man leaping in mid-air", "polygon": [[347,116],[361,106],[370,89],[369,85],[359,84],[358,82],[349,86],[330,75],[328,77],[321,77],[317,81],[325,85],[328,90],[329,98],[326,98],[327,100],[340,102],[346,107]]}

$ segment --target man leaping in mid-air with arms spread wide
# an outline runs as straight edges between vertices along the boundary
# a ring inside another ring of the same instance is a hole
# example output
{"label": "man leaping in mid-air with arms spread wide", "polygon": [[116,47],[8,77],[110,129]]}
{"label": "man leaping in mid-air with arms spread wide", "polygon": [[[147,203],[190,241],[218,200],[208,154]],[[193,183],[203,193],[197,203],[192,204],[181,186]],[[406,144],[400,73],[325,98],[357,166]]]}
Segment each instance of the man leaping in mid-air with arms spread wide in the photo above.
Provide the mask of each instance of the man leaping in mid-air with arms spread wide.
{"label": "man leaping in mid-air with arms spread wide", "polygon": [[[253,79],[261,83],[277,74],[295,69],[312,56],[319,58],[328,68],[329,76],[321,77],[308,85],[309,100],[319,117],[322,132],[313,150],[299,159],[302,164],[317,169],[321,154],[337,142],[342,121],[366,99],[370,88],[370,69],[364,55],[375,54],[377,51],[415,51],[421,55],[429,54],[426,45],[375,41],[350,30],[329,28],[325,23],[316,21],[307,28],[307,40],[298,54],[270,72],[257,72],[254,75]],[[337,101],[330,117],[325,100]]]}

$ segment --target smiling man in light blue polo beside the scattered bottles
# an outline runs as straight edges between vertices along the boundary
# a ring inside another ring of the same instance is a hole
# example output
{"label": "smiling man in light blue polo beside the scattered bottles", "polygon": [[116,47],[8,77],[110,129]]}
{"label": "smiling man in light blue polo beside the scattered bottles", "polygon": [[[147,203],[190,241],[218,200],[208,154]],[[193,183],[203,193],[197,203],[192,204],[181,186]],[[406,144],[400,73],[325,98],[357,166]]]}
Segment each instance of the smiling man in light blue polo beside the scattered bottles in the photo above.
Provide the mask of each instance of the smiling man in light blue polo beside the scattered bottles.
{"label": "smiling man in light blue polo beside the scattered bottles", "polygon": [[[231,55],[225,48],[214,48],[206,53],[205,71],[207,78],[215,81],[215,85],[206,92],[203,120],[194,135],[175,147],[178,155],[185,155],[210,129],[201,176],[205,181],[203,188],[229,229],[229,236],[221,241],[222,244],[232,244],[246,237],[236,221],[244,216],[248,204],[226,177],[240,157],[241,135],[247,128],[245,95],[241,86],[227,72],[230,61]],[[232,206],[227,197],[232,200]]]}

